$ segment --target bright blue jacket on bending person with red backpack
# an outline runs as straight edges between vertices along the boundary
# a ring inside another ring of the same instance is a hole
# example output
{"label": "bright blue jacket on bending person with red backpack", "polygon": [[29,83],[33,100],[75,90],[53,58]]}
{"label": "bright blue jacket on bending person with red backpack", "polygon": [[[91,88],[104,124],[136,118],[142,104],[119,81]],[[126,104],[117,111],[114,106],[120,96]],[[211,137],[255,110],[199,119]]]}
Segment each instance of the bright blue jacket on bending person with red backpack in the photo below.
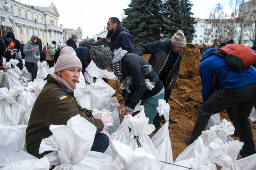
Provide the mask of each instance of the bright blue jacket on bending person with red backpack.
{"label": "bright blue jacket on bending person with red backpack", "polygon": [[256,82],[256,69],[254,67],[249,66],[241,71],[228,68],[225,59],[215,55],[215,50],[216,48],[206,50],[199,66],[203,102],[214,93],[214,75],[216,85],[225,89],[243,87]]}

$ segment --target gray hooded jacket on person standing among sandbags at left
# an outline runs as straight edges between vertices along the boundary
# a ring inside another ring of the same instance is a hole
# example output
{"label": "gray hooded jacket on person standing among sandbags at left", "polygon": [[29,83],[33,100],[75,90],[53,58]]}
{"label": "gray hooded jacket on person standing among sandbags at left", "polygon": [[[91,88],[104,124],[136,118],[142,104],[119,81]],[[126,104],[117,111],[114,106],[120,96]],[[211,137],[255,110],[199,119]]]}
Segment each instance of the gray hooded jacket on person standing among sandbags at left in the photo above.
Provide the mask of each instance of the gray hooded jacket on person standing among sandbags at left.
{"label": "gray hooded jacket on person standing among sandbags at left", "polygon": [[[39,38],[38,42],[34,44],[34,38],[38,38],[37,35],[32,35],[31,39],[24,45],[23,53],[25,54],[25,62],[35,63],[36,59],[40,59],[39,53]],[[32,49],[36,48],[35,51]]]}

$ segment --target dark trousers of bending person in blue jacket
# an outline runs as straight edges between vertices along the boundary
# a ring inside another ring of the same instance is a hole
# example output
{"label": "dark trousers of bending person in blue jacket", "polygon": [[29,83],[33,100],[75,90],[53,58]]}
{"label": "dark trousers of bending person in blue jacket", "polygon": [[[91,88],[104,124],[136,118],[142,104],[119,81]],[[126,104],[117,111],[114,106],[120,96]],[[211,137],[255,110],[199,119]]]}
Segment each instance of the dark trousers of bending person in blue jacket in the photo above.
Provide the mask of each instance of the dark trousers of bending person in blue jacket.
{"label": "dark trousers of bending person in blue jacket", "polygon": [[196,140],[205,130],[212,114],[221,112],[230,106],[235,106],[234,116],[240,141],[244,142],[243,154],[255,154],[255,144],[248,119],[256,102],[256,83],[234,89],[220,89],[212,94],[204,102],[199,110],[194,129],[191,134],[191,142]]}

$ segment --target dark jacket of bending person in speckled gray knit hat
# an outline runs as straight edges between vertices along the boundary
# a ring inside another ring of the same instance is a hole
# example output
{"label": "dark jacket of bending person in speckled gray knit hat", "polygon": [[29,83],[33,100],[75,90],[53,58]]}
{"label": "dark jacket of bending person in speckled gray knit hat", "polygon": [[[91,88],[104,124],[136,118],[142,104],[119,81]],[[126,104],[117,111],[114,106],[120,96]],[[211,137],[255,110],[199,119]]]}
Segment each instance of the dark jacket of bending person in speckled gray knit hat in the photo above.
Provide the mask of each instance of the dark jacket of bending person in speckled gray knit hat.
{"label": "dark jacket of bending person in speckled gray knit hat", "polygon": [[[140,99],[146,99],[154,96],[163,88],[163,84],[159,81],[159,77],[155,73],[154,69],[151,69],[151,72],[144,76],[142,71],[142,67],[144,65],[149,64],[141,56],[134,53],[127,53],[122,58],[122,78],[124,80],[126,77],[131,76],[133,81],[132,86],[129,87],[131,93],[126,91],[124,105],[132,109],[135,108]],[[150,82],[156,83],[155,87],[151,91],[146,87],[145,79],[149,79]]]}

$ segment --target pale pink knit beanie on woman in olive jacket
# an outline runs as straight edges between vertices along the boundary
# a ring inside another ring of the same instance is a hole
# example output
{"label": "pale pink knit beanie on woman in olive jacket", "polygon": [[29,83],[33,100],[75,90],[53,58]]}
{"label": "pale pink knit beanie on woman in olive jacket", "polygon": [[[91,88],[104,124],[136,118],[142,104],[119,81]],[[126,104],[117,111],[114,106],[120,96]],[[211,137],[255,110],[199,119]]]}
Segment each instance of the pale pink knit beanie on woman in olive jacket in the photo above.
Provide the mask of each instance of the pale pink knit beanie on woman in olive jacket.
{"label": "pale pink knit beanie on woman in olive jacket", "polygon": [[68,68],[80,68],[82,69],[82,63],[76,56],[76,53],[72,47],[64,47],[60,51],[60,56],[56,62],[55,73],[63,71]]}

